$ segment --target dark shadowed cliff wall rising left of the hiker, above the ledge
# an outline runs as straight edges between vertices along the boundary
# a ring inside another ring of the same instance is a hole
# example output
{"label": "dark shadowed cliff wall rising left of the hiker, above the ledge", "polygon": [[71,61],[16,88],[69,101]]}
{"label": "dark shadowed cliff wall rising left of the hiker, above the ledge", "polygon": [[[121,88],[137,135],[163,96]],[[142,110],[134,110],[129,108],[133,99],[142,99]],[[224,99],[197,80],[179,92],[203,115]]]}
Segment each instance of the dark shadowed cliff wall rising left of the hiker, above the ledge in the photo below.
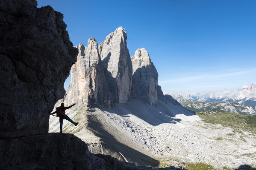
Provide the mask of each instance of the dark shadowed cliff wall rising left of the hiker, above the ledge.
{"label": "dark shadowed cliff wall rising left of the hiker, above the ledge", "polygon": [[48,132],[76,62],[63,15],[35,0],[0,1],[0,138]]}

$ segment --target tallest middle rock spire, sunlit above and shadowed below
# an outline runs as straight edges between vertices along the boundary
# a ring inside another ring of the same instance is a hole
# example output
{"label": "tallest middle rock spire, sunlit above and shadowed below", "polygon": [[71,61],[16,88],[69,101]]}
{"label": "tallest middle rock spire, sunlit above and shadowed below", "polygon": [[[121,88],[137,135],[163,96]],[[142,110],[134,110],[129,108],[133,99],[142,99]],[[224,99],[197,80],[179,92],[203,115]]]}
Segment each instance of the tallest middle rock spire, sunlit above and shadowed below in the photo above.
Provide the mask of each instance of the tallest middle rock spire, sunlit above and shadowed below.
{"label": "tallest middle rock spire, sunlit above and shadowed below", "polygon": [[99,45],[104,73],[116,103],[126,103],[131,96],[132,62],[122,27],[110,33]]}

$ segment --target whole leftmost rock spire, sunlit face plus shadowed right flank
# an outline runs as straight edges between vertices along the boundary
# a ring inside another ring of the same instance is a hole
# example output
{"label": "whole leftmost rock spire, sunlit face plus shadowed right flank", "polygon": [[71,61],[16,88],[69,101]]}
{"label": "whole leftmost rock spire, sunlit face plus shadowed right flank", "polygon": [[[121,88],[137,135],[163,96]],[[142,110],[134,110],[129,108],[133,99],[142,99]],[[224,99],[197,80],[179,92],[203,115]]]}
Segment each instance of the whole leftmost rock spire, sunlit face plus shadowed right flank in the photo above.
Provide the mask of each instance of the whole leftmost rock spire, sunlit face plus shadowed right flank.
{"label": "whole leftmost rock spire, sunlit face plus shadowed right flank", "polygon": [[77,62],[71,67],[71,84],[62,101],[67,105],[73,103],[111,105],[113,96],[109,92],[109,85],[103,73],[96,39],[88,39],[88,47],[82,43],[75,47],[79,51]]}

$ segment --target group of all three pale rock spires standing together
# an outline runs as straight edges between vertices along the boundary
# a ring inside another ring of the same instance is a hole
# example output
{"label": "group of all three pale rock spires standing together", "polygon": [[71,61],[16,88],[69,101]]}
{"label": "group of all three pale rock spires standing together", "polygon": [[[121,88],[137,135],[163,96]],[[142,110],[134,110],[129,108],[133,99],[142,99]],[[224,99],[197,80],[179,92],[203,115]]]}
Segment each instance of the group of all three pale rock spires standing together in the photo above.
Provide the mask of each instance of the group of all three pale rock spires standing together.
{"label": "group of all three pale rock spires standing together", "polygon": [[[130,57],[127,34],[119,27],[98,46],[95,38],[78,48],[77,62],[71,67],[71,84],[62,102],[113,106],[132,97],[151,105],[165,101],[158,74],[145,48]],[[159,93],[159,94],[158,94]]]}

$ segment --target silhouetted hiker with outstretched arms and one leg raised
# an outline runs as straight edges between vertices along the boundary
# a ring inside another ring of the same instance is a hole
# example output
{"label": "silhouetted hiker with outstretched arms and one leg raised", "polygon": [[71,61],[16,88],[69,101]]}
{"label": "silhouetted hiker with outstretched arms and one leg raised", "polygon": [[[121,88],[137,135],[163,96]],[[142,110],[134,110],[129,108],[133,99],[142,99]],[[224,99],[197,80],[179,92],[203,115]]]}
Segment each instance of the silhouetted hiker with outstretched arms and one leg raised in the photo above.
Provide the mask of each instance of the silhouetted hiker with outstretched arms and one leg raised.
{"label": "silhouetted hiker with outstretched arms and one leg raised", "polygon": [[59,116],[59,122],[60,122],[60,125],[59,125],[60,132],[59,132],[59,133],[62,133],[63,119],[68,120],[69,122],[73,123],[75,126],[78,125],[79,122],[75,123],[72,119],[70,119],[70,118],[65,114],[65,110],[66,110],[66,109],[69,109],[69,108],[71,108],[71,107],[73,107],[74,105],[76,105],[76,104],[70,105],[70,106],[68,106],[68,107],[64,107],[64,103],[62,103],[60,107],[56,108],[56,111],[55,111],[55,112],[50,113],[50,114],[57,113],[57,115]]}

